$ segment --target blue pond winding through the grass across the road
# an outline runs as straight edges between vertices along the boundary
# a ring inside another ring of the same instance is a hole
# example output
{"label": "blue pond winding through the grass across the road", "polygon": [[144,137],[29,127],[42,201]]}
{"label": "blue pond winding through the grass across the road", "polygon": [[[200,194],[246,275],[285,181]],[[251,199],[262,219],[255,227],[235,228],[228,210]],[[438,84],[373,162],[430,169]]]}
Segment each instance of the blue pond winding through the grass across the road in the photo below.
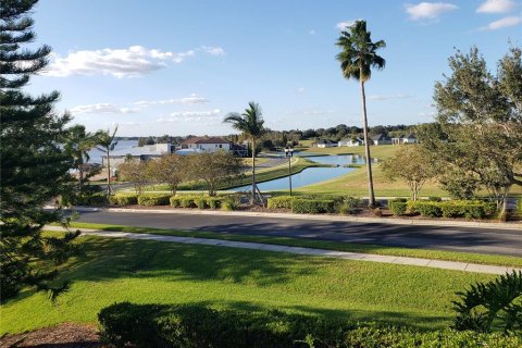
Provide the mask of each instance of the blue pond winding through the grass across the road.
{"label": "blue pond winding through the grass across the road", "polygon": [[[309,167],[304,171],[291,175],[291,188],[298,188],[301,186],[308,186],[324,181],[330,181],[337,176],[350,173],[355,171],[352,167],[344,167],[348,164],[364,164],[364,157],[357,154],[341,154],[341,156],[320,156],[312,157],[309,160],[322,163],[336,165],[332,167]],[[289,189],[288,176],[276,178],[270,182],[258,184],[258,187],[262,191]],[[245,191],[251,189],[251,185],[236,187],[233,191]]]}

